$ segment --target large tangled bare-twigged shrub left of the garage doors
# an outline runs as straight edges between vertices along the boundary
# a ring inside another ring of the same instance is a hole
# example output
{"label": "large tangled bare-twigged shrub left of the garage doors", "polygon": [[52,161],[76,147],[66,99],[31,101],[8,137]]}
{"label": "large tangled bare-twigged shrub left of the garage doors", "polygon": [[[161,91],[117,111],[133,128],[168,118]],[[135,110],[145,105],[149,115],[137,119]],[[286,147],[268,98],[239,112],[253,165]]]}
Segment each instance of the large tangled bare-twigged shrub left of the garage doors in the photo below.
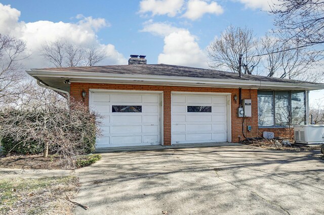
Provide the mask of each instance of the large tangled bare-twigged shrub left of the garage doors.
{"label": "large tangled bare-twigged shrub left of the garage doors", "polygon": [[58,153],[65,165],[71,158],[95,150],[98,116],[82,103],[68,106],[48,105],[39,109],[0,110],[0,137],[4,153]]}

